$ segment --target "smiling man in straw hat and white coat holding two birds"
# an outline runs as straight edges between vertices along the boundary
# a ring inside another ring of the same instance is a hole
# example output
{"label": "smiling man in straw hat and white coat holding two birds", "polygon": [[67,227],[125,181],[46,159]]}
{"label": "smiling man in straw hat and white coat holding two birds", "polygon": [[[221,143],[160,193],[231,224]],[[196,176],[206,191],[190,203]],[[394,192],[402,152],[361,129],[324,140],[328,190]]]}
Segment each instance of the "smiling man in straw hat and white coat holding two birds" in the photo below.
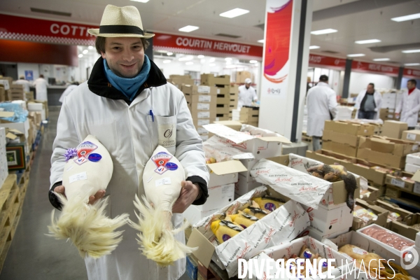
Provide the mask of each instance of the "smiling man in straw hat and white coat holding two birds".
{"label": "smiling man in straw hat and white coat holding two birds", "polygon": [[[209,172],[202,139],[195,130],[183,93],[167,83],[144,49],[154,34],[143,31],[139,10],[134,6],[106,6],[99,29],[89,29],[101,57],[87,82],[80,84],[62,104],[57,137],[51,159],[50,202],[61,207],[52,192],[64,193],[62,173],[67,148],[74,148],[92,134],[107,148],[113,160],[113,175],[106,193],[100,190],[90,203],[109,196],[108,214],[134,216],[135,195],[144,195],[143,172],[158,145],[167,148],[183,165],[186,181],[172,209],[172,223],[183,223],[190,204],[207,200]],[[126,225],[123,241],[111,255],[86,258],[90,280],[176,280],[186,271],[186,259],[169,267],[158,267],[141,254],[137,232]],[[185,242],[183,231],[175,235]]]}

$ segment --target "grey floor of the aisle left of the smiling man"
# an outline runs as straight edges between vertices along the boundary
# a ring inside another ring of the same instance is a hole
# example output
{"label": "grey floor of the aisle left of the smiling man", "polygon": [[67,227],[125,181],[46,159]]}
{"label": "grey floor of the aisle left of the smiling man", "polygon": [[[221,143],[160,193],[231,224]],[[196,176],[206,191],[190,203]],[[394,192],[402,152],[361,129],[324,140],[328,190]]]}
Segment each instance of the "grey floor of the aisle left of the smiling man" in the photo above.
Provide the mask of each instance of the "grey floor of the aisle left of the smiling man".
{"label": "grey floor of the aisle left of the smiling man", "polygon": [[29,176],[29,186],[18,228],[8,251],[0,280],[87,279],[85,262],[76,248],[62,240],[45,236],[53,209],[48,201],[52,142],[57,131],[59,109],[50,108]]}

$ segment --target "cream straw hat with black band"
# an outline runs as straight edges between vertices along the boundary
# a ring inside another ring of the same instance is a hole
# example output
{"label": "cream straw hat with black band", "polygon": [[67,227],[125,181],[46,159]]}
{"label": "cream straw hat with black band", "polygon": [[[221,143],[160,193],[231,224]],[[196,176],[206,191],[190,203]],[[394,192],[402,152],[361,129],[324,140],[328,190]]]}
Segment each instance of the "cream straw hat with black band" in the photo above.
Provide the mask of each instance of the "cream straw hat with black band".
{"label": "cream straw hat with black band", "polygon": [[139,10],[134,6],[107,5],[99,28],[87,31],[94,36],[102,37],[151,38],[155,36],[155,34],[144,32]]}

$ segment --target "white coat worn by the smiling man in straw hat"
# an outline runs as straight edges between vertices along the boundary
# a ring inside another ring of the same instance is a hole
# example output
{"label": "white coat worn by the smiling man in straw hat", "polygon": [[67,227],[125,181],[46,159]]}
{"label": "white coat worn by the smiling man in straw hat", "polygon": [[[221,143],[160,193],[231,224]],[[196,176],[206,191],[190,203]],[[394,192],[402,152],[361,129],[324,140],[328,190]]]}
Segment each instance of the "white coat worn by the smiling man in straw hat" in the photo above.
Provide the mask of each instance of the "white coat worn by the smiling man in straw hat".
{"label": "white coat worn by the smiling man in straw hat", "polygon": [[[153,110],[154,120],[148,115]],[[134,216],[134,195],[144,195],[143,171],[146,162],[165,140],[167,125],[174,125],[176,147],[167,148],[176,156],[186,176],[200,176],[209,181],[205,165],[202,139],[195,130],[186,99],[174,85],[168,83],[143,90],[127,105],[123,100],[107,99],[92,93],[87,82],[79,85],[62,104],[57,123],[57,137],[53,144],[51,186],[62,181],[66,148],[76,147],[92,134],[108,149],[113,160],[113,176],[106,195],[109,195],[109,216]],[[66,186],[64,186],[66,187]],[[174,214],[172,223],[179,227],[183,214]],[[94,260],[85,259],[90,280],[174,280],[186,270],[186,259],[160,268],[139,251],[136,230],[123,227],[123,241],[111,255]],[[185,242],[183,232],[176,239]]]}

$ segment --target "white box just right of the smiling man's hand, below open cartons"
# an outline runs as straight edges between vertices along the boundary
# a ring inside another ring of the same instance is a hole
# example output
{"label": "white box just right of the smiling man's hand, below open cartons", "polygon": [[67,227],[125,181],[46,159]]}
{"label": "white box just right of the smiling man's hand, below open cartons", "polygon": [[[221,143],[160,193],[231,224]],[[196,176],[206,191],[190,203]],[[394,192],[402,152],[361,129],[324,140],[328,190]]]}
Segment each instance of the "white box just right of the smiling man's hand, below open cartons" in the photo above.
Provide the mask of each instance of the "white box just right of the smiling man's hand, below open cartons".
{"label": "white box just right of the smiling man's hand, below open cartons", "polygon": [[206,203],[196,206],[200,211],[221,209],[235,200],[235,183],[213,186],[207,188],[207,190],[209,191],[209,197]]}

